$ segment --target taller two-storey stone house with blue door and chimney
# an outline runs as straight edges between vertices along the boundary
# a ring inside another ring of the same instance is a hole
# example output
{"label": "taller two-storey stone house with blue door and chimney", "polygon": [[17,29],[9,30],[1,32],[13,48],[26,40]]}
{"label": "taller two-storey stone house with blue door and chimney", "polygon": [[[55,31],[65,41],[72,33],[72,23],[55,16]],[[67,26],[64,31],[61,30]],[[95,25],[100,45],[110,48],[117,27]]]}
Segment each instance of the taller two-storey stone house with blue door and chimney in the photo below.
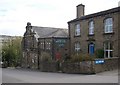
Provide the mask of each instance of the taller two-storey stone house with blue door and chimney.
{"label": "taller two-storey stone house with blue door and chimney", "polygon": [[77,17],[68,22],[70,53],[104,51],[104,58],[118,57],[120,7],[85,15],[85,5],[77,6]]}

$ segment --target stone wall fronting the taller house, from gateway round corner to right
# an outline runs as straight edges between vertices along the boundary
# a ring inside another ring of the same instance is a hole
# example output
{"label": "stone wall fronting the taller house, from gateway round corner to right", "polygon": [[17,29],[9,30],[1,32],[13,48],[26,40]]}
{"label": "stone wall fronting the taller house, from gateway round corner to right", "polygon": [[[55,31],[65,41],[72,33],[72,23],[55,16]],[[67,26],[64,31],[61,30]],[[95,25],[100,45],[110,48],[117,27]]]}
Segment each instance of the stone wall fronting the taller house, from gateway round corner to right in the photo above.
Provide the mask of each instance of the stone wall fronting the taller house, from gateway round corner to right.
{"label": "stone wall fronting the taller house, from gateway round corner to right", "polygon": [[93,74],[114,69],[118,69],[118,58],[104,59],[104,63],[102,64],[96,64],[95,61],[62,63],[62,72],[64,73]]}

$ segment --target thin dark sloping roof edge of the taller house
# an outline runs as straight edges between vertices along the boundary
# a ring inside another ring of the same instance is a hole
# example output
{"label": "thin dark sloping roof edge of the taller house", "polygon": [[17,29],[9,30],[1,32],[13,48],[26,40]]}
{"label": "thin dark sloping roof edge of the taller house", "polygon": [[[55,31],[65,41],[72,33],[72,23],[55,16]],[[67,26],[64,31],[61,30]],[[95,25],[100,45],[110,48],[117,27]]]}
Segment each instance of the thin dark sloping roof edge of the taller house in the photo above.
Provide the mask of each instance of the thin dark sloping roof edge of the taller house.
{"label": "thin dark sloping roof edge of the taller house", "polygon": [[116,12],[120,12],[120,7],[116,7],[116,8],[112,8],[109,10],[85,15],[85,16],[82,16],[80,18],[73,19],[73,20],[69,21],[68,23],[79,21],[79,20],[85,20],[85,19],[89,19],[89,18],[94,18],[94,17],[98,17],[98,16],[102,16],[102,15],[107,15],[107,14],[111,14],[111,13],[116,13]]}

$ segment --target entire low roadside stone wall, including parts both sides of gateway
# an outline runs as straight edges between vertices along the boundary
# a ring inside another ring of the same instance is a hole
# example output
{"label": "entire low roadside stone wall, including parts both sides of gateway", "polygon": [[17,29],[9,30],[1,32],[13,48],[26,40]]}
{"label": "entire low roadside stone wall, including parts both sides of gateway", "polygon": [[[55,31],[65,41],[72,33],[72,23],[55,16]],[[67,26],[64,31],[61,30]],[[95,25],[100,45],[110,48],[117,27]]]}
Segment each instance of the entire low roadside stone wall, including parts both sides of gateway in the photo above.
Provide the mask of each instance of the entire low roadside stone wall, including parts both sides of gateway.
{"label": "entire low roadside stone wall, including parts both sides of gateway", "polygon": [[[104,60],[104,63],[96,64],[96,60]],[[76,74],[95,74],[118,69],[118,57],[96,60],[75,63],[66,61],[61,64],[56,61],[40,62],[39,68],[42,72],[63,72]]]}

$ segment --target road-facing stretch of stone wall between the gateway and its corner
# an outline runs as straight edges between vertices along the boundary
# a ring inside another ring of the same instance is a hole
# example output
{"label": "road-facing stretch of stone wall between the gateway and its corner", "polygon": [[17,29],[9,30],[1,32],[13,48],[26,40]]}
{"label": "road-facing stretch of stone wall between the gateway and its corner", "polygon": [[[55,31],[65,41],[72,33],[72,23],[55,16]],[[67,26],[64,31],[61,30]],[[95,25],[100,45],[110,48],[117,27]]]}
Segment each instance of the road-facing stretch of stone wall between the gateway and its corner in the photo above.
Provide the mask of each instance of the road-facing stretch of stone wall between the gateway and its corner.
{"label": "road-facing stretch of stone wall between the gateway and its corner", "polygon": [[77,63],[64,62],[62,63],[62,72],[92,74],[94,73],[93,63],[93,61],[83,61]]}

